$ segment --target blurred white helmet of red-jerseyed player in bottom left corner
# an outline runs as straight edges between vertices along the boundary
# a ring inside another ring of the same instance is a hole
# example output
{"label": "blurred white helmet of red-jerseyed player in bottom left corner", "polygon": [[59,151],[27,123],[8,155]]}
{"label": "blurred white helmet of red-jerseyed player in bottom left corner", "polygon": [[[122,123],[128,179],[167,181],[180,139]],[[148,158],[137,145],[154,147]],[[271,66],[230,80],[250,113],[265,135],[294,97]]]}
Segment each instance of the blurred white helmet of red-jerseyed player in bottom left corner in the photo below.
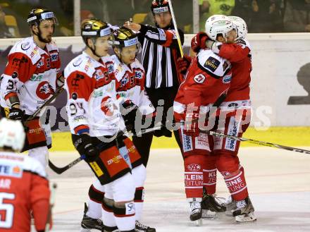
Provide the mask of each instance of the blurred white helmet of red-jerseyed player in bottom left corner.
{"label": "blurred white helmet of red-jerseyed player in bottom left corner", "polygon": [[25,130],[20,121],[1,118],[0,148],[8,148],[20,152],[24,147],[25,136]]}

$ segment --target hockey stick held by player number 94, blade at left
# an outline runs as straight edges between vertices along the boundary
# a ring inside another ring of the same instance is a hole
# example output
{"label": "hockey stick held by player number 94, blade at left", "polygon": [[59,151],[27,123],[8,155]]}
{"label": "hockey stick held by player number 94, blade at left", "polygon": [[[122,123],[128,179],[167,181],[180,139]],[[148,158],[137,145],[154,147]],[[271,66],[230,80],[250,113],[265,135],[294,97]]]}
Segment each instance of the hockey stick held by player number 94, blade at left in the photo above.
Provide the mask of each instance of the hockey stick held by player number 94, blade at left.
{"label": "hockey stick held by player number 94, blade at left", "polygon": [[[161,126],[156,126],[154,128],[148,128],[148,129],[144,129],[144,130],[141,130],[139,133],[137,134],[133,134],[133,133],[127,133],[126,135],[128,137],[134,137],[134,136],[139,136],[139,135],[144,135],[144,134],[147,134],[147,133],[151,133],[153,132],[154,130],[159,130],[161,128]],[[116,138],[119,138],[120,136],[123,136],[123,134],[121,135],[118,135],[116,136]],[[99,145],[99,149],[102,149],[104,148],[105,145],[101,144]],[[58,167],[56,165],[54,165],[50,160],[49,160],[49,167],[51,168],[51,170],[53,170],[55,173],[57,174],[61,174],[63,173],[64,171],[67,171],[68,169],[70,169],[71,167],[75,166],[75,164],[78,164],[80,163],[80,161],[82,161],[83,159],[85,159],[85,155],[82,154],[82,156],[78,157],[77,159],[73,160],[72,162],[70,162],[69,164],[67,164],[66,166],[63,166],[63,167]]]}

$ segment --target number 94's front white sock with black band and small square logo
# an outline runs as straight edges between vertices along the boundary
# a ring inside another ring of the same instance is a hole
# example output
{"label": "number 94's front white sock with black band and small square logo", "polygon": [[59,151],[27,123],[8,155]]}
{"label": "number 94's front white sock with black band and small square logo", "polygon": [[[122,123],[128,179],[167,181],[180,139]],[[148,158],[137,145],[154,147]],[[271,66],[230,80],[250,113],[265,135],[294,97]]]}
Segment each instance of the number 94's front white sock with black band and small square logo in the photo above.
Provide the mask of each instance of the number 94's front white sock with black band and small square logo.
{"label": "number 94's front white sock with black band and small square logo", "polygon": [[135,229],[135,203],[113,205],[113,213],[116,225],[120,231],[132,231]]}

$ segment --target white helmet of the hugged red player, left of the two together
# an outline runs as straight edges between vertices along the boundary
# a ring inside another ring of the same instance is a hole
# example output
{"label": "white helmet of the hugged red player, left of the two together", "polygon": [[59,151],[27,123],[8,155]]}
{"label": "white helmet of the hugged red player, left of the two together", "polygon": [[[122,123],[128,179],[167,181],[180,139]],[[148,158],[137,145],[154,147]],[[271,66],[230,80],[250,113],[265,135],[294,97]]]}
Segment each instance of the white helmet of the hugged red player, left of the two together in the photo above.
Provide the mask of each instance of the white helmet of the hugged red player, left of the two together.
{"label": "white helmet of the hugged red player, left of the two together", "polygon": [[228,16],[223,15],[213,15],[206,20],[206,35],[212,40],[216,40],[219,34],[223,37],[227,37],[227,33],[235,29],[237,31],[236,25],[228,18]]}

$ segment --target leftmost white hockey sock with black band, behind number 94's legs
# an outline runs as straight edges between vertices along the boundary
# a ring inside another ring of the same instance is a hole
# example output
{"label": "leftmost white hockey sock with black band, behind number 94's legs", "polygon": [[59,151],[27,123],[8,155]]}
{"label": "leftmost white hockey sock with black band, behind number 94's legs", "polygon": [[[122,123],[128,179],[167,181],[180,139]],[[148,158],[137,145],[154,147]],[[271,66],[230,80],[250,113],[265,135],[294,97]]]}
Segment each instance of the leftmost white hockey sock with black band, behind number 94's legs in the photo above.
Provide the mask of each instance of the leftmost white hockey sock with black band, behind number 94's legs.
{"label": "leftmost white hockey sock with black band, behind number 94's legs", "polygon": [[[98,181],[99,183],[99,181]],[[101,185],[97,186],[97,182],[89,187],[88,191],[88,211],[86,213],[87,216],[92,219],[100,219],[101,218],[101,202],[104,200],[104,193],[98,190],[96,187],[101,187]]]}

